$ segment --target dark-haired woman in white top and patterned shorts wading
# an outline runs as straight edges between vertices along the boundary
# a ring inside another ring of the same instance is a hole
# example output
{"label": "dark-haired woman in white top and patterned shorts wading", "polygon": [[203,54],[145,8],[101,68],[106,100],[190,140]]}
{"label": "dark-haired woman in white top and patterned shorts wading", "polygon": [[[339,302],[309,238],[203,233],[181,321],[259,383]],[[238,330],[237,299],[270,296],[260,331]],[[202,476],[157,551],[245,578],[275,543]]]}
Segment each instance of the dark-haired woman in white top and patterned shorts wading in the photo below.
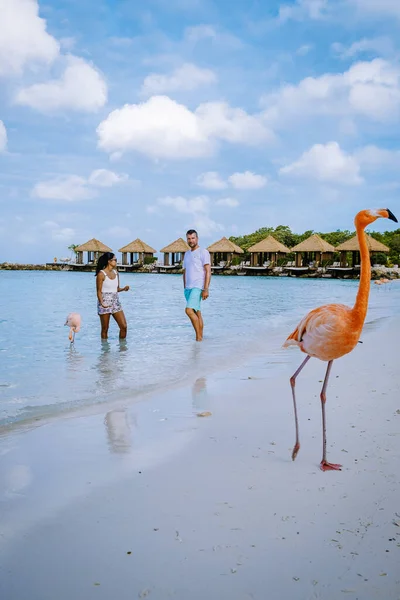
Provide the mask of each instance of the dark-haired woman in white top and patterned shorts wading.
{"label": "dark-haired woman in white top and patterned shorts wading", "polygon": [[119,275],[116,266],[117,258],[112,252],[105,252],[100,256],[96,266],[97,312],[101,322],[102,340],[106,340],[108,337],[111,315],[118,324],[120,339],[126,338],[128,330],[118,292],[127,292],[129,285],[124,288],[119,287]]}

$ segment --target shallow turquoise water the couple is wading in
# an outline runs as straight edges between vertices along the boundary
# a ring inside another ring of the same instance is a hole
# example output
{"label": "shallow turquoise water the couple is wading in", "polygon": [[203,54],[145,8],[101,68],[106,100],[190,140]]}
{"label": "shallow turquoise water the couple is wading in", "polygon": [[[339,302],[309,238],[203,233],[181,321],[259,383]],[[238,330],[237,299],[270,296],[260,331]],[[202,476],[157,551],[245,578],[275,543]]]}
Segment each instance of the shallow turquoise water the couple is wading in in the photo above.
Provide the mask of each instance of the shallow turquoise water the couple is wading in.
{"label": "shallow turquoise water the couple is wading in", "polygon": [[[0,426],[113,399],[132,399],[251,357],[274,364],[297,321],[327,302],[353,304],[358,283],[214,277],[203,305],[205,340],[194,341],[182,278],[121,274],[128,338],[112,321],[101,342],[92,273],[0,271]],[[400,282],[371,286],[368,324],[396,314]],[[74,346],[64,322],[82,315]],[[285,356],[285,353],[282,353]]]}

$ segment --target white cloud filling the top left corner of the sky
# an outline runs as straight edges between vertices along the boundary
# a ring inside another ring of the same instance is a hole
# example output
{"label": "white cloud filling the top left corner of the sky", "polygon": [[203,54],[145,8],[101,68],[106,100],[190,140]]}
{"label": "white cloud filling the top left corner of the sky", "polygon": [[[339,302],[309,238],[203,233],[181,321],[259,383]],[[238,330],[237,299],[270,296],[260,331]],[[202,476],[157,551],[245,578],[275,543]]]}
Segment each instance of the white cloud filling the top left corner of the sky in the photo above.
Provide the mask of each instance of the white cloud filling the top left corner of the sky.
{"label": "white cloud filling the top left corner of the sky", "polygon": [[19,75],[27,65],[50,65],[58,57],[59,44],[36,0],[0,0],[0,15],[0,75]]}

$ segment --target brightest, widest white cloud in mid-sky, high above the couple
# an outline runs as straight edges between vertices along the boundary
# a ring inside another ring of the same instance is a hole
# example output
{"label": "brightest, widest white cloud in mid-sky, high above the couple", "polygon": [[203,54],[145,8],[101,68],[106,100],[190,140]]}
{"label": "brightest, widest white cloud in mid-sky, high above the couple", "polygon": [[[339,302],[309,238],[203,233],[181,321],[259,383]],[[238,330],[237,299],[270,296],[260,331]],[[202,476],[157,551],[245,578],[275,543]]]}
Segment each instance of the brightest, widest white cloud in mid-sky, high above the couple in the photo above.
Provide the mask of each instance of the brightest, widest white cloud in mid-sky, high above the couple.
{"label": "brightest, widest white cloud in mid-sky, high above the couple", "polygon": [[210,102],[192,112],[168,96],[125,104],[100,123],[97,134],[107,152],[134,150],[156,159],[208,156],[219,140],[254,145],[273,138],[258,116],[242,109]]}

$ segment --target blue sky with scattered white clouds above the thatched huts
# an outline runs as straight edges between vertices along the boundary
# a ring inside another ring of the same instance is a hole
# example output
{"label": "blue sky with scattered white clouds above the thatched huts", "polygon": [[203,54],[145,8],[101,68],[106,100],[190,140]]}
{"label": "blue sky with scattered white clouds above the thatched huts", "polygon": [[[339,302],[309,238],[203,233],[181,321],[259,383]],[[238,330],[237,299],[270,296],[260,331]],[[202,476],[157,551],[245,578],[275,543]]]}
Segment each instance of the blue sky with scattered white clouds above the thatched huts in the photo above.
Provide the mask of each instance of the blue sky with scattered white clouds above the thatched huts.
{"label": "blue sky with scattered white clouds above the thatched huts", "polygon": [[0,262],[400,212],[398,0],[0,13]]}

